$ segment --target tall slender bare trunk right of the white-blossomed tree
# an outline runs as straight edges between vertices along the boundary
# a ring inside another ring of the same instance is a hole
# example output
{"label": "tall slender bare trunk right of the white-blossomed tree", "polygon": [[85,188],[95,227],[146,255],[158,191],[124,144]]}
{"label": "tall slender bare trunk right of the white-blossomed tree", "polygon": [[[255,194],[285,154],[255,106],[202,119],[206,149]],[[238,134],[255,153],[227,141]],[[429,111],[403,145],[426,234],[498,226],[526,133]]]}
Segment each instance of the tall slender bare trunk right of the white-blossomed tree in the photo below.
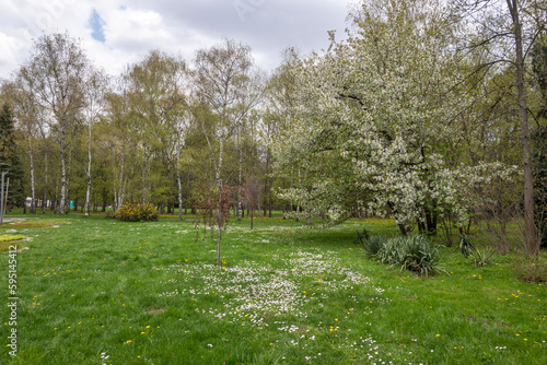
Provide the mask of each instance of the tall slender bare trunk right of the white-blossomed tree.
{"label": "tall slender bare trunk right of the white-blossomed tree", "polygon": [[513,32],[516,51],[516,90],[519,92],[519,116],[521,119],[522,161],[524,165],[524,248],[526,255],[537,256],[539,247],[536,243],[534,226],[534,176],[532,172],[532,153],[529,148],[528,111],[526,89],[524,85],[524,54],[522,45],[522,24],[516,0],[507,0],[513,20]]}

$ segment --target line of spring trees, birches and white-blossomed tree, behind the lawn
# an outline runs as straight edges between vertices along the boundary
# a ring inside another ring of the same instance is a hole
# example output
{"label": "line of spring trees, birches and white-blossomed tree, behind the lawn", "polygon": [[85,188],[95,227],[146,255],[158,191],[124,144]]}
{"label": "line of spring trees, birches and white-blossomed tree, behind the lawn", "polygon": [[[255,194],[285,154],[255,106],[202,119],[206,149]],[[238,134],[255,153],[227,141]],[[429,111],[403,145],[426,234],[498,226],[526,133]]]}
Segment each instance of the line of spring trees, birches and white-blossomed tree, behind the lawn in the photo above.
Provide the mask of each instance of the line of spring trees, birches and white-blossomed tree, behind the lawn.
{"label": "line of spring trees, birches and white-blossomed tree, behind the lawn", "polygon": [[32,212],[131,201],[182,214],[201,184],[230,185],[240,219],[245,207],[307,221],[373,213],[449,242],[484,220],[500,252],[523,216],[537,255],[545,11],[535,0],[361,2],[346,39],[289,49],[270,74],[225,39],[189,62],[151,50],[112,76],[69,34],[46,34],[1,89],[21,197]]}

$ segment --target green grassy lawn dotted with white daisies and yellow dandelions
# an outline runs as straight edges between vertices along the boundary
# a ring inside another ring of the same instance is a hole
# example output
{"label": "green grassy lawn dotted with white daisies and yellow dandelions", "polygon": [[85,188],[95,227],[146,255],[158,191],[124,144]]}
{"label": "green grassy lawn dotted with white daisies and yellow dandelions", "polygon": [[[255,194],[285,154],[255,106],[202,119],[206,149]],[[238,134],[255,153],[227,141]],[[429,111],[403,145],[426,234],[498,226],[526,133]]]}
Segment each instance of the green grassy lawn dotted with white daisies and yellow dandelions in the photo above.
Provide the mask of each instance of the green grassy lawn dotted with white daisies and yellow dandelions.
{"label": "green grassy lawn dotted with white daisies and yellow dandelions", "polygon": [[353,238],[397,234],[392,221],[231,222],[217,268],[189,216],[36,216],[0,229],[32,238],[13,243],[28,249],[16,254],[16,357],[0,308],[1,364],[547,362],[547,284],[519,281],[513,257],[478,268],[455,248],[442,249],[450,276],[386,270]]}

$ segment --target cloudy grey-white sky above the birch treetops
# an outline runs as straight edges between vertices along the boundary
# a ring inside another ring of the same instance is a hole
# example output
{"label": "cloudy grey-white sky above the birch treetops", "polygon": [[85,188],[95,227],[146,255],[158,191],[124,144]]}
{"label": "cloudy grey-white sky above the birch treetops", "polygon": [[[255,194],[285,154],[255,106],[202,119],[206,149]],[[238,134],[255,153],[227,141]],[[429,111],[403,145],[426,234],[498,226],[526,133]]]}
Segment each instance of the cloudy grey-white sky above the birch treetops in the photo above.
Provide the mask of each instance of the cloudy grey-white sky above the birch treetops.
{"label": "cloudy grey-white sky above the birch treetops", "polygon": [[151,49],[182,54],[231,38],[253,48],[266,71],[287,47],[328,47],[327,31],[342,38],[347,0],[0,0],[0,79],[30,57],[44,32],[82,40],[89,57],[112,74]]}

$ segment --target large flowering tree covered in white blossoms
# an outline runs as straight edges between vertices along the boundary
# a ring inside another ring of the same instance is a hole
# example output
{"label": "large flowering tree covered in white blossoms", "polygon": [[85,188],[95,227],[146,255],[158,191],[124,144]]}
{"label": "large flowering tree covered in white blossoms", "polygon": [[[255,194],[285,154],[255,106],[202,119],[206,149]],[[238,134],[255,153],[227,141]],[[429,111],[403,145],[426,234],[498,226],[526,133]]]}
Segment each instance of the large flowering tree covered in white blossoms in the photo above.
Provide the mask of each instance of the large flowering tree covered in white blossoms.
{"label": "large flowering tree covered in white blossoms", "polygon": [[434,234],[440,215],[466,219],[466,187],[479,175],[443,153],[468,103],[444,14],[434,0],[363,3],[346,43],[295,62],[292,120],[274,150],[281,170],[306,170],[307,185],[281,198],[339,219],[357,189],[403,234],[415,221]]}

